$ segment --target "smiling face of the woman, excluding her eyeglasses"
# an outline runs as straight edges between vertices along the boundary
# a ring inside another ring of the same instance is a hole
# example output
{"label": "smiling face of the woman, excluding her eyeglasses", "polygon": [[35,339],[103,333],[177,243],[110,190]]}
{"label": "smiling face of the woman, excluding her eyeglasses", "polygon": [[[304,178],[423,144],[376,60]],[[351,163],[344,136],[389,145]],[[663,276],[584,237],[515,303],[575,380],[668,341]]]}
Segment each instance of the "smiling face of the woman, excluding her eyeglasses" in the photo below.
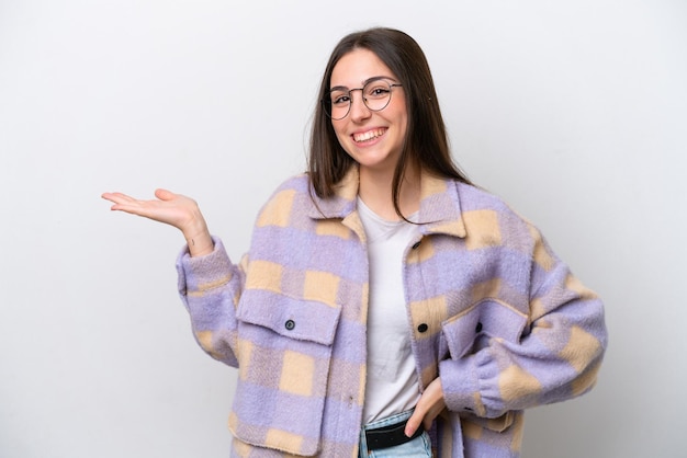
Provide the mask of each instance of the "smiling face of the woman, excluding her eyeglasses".
{"label": "smiling face of the woman, excluding her eyeglasses", "polygon": [[[344,55],[331,72],[330,88],[344,91],[365,85],[371,79],[401,83],[396,76],[369,49],[358,48]],[[350,112],[331,125],[341,147],[362,169],[394,171],[405,141],[408,114],[402,87],[391,88],[391,101],[381,111],[371,111],[362,91],[351,92]]]}

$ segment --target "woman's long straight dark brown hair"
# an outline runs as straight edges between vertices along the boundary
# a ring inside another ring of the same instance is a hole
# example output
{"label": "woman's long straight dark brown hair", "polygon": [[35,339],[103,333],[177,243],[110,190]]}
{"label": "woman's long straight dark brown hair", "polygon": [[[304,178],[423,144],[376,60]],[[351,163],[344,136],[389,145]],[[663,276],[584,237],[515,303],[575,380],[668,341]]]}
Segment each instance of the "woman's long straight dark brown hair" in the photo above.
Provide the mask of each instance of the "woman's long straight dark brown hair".
{"label": "woman's long straight dark brown hair", "polygon": [[419,170],[438,176],[464,183],[470,183],[470,180],[451,159],[427,58],[415,39],[397,30],[375,27],[356,32],[345,36],[331,51],[319,85],[319,103],[313,119],[308,159],[313,191],[320,198],[333,196],[336,185],[354,164],[354,160],[341,148],[336,137],[323,100],[329,93],[334,67],[346,54],[359,48],[374,53],[403,84],[408,124],[394,172],[392,196],[396,213],[405,219],[398,208],[398,194],[408,162],[412,161],[419,165]]}

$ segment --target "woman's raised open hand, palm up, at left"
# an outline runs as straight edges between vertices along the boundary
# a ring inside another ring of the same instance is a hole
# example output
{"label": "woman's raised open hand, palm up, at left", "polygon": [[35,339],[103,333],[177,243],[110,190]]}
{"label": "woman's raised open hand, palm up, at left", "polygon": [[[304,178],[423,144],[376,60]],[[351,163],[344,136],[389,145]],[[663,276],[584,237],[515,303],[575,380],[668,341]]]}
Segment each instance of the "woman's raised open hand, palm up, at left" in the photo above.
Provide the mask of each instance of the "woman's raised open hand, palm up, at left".
{"label": "woman's raised open hand, palm up, at left", "polygon": [[205,218],[190,197],[167,190],[156,190],[156,199],[140,201],[122,193],[104,193],[102,198],[112,202],[112,210],[125,211],[164,222],[179,229],[189,244],[192,256],[213,251],[214,244]]}

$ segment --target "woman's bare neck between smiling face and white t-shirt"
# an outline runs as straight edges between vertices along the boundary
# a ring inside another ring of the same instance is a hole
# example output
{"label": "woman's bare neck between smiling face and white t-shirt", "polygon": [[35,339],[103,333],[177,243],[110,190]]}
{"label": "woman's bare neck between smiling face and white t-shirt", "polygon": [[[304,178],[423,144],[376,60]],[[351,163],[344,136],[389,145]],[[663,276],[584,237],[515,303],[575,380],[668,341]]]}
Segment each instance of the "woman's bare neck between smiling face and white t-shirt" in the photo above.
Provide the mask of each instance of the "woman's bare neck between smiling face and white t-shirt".
{"label": "woman's bare neck between smiling face and white t-shirt", "polygon": [[[358,194],[362,202],[375,214],[390,221],[401,217],[394,208],[394,171],[375,171],[360,168],[360,187]],[[420,174],[414,167],[408,167],[401,182],[398,208],[406,218],[420,206]]]}

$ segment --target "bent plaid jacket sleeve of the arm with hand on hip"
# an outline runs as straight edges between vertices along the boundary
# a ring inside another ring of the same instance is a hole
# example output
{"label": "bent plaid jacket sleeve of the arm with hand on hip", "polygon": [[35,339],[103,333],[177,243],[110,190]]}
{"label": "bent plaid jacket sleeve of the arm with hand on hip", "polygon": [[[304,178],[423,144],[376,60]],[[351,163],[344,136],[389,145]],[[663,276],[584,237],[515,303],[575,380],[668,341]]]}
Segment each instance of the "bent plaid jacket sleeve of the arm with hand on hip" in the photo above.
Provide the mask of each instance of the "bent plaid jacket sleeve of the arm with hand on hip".
{"label": "bent plaid jacket sleeve of the arm with hand on hip", "polygon": [[[484,307],[496,310],[489,316],[498,319],[485,328],[492,325],[494,332],[483,330],[482,323],[473,327],[473,350],[452,354],[439,365],[451,411],[496,419],[574,398],[596,381],[607,345],[602,304],[536,228],[530,227],[530,233],[528,310],[487,301]],[[500,333],[498,328],[510,331]]]}

